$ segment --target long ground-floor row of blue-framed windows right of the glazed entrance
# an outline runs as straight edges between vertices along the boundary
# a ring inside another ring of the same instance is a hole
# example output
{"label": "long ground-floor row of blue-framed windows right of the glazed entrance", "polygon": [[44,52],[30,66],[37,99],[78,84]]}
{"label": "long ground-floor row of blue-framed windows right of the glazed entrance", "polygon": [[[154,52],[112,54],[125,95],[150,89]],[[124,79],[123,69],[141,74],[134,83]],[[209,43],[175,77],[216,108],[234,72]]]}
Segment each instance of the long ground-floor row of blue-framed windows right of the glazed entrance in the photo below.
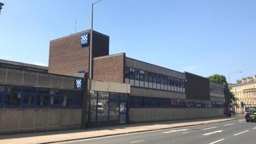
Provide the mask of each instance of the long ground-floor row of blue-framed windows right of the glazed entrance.
{"label": "long ground-floor row of blue-framed windows right of the glazed entrance", "polygon": [[172,107],[225,108],[225,102],[131,96],[130,107],[131,108],[172,108]]}

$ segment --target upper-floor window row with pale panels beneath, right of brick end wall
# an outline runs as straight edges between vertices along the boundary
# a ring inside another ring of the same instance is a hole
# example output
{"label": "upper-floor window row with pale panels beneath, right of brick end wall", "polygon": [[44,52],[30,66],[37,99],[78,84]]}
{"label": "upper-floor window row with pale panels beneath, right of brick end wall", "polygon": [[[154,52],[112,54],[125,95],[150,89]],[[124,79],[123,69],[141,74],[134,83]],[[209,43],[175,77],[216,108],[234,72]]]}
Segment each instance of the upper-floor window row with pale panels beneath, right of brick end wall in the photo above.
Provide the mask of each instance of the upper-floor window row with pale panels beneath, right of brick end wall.
{"label": "upper-floor window row with pale panels beneath, right of brick end wall", "polygon": [[149,73],[134,68],[125,68],[125,83],[148,89],[185,93],[185,79]]}

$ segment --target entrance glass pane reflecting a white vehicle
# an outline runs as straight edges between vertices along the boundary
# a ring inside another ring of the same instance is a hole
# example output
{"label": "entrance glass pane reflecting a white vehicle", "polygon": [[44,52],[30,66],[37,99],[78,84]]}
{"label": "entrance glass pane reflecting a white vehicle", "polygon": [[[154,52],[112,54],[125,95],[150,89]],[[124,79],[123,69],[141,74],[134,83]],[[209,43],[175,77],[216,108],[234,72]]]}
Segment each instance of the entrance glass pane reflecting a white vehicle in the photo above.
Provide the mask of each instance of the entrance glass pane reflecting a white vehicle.
{"label": "entrance glass pane reflecting a white vehicle", "polygon": [[98,99],[97,119],[98,121],[108,121],[108,100]]}

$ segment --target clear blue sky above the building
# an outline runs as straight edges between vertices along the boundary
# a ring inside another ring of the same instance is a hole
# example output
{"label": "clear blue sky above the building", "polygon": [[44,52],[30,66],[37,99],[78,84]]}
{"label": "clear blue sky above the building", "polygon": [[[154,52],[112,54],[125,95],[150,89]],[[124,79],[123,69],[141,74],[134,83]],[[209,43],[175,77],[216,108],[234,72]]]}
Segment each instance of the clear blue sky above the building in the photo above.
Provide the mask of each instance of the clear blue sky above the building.
{"label": "clear blue sky above the building", "polygon": [[[92,0],[0,0],[0,59],[47,66],[53,39],[90,29]],[[254,0],[102,0],[93,30],[110,54],[200,76],[256,74]],[[77,20],[75,31],[75,20]]]}

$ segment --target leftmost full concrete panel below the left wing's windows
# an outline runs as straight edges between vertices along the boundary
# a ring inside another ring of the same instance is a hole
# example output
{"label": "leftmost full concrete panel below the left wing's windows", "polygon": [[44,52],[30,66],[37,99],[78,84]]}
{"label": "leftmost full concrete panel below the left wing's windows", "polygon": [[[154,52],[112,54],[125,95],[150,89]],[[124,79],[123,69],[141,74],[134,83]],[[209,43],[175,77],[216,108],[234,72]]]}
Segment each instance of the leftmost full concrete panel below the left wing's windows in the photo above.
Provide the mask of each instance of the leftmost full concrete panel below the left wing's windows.
{"label": "leftmost full concrete panel below the left wing's windows", "polygon": [[20,110],[5,109],[3,117],[3,130],[18,130],[20,120]]}

